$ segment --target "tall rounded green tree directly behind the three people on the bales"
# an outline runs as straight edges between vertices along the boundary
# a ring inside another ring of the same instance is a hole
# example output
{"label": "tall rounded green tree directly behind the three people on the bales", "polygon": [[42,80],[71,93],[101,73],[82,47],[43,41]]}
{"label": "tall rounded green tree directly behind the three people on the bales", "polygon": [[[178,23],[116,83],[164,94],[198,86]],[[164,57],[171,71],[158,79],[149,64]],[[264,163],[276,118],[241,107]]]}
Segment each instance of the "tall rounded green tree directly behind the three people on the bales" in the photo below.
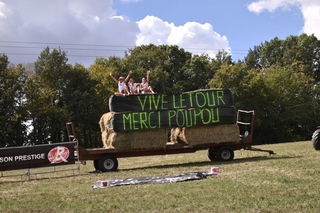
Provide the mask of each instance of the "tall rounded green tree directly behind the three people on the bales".
{"label": "tall rounded green tree directly behind the three people on the bales", "polygon": [[128,50],[123,64],[132,76],[141,82],[151,70],[149,84],[159,93],[184,92],[183,85],[188,80],[185,64],[191,59],[191,53],[176,45],[141,45]]}

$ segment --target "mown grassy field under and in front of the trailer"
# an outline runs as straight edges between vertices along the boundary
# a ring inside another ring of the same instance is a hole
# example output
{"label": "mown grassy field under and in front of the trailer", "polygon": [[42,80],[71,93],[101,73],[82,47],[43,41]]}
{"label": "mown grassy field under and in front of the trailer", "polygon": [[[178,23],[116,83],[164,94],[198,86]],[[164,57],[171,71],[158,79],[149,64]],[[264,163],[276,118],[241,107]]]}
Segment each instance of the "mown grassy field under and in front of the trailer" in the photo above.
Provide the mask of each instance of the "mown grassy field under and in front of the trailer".
{"label": "mown grassy field under and in front of the trailer", "polygon": [[[76,176],[66,171],[31,181],[0,178],[0,212],[320,212],[320,152],[311,141],[255,147],[277,155],[242,150],[233,161],[221,163],[209,161],[202,150],[120,158],[116,172],[96,172],[89,161]],[[97,180],[211,167],[220,167],[221,173],[189,182],[91,188]]]}

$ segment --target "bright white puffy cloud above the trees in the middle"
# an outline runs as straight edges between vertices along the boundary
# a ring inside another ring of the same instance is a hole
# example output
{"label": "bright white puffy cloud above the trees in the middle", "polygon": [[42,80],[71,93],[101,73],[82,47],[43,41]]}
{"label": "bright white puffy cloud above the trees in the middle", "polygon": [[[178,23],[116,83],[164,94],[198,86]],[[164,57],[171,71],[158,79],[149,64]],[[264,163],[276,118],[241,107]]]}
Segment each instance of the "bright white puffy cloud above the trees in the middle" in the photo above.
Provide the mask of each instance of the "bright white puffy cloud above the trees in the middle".
{"label": "bright white puffy cloud above the trees in the middle", "polygon": [[[175,27],[154,16],[147,16],[137,22],[140,34],[137,35],[136,45],[154,43],[178,45],[181,48],[195,48],[192,52],[207,52],[214,57],[217,50],[205,49],[230,49],[226,36],[221,36],[213,30],[209,23],[200,24],[187,22],[183,26]],[[190,50],[191,51],[191,50]]]}

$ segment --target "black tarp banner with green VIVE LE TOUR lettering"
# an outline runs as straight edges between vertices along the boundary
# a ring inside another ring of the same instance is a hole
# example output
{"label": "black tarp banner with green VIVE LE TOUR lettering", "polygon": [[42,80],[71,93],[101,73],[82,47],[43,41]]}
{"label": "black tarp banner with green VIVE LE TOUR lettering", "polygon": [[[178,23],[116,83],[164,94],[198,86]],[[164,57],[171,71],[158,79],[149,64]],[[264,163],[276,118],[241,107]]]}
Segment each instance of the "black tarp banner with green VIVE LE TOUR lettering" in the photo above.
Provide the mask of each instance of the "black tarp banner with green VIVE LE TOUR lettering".
{"label": "black tarp banner with green VIVE LE TOUR lettering", "polygon": [[186,110],[233,106],[230,89],[212,89],[182,94],[111,95],[111,112]]}

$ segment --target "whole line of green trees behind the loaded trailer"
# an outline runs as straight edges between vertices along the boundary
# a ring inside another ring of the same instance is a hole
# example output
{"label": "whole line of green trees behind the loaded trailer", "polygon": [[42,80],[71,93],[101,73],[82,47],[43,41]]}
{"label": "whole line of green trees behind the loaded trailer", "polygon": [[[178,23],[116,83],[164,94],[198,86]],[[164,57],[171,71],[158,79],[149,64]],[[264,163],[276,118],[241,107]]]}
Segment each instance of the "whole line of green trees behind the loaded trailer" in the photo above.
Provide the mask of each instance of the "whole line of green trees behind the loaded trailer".
{"label": "whole line of green trees behind the loaded trailer", "polygon": [[[320,41],[314,35],[277,37],[249,49],[244,60],[227,51],[214,58],[176,45],[141,45],[122,57],[97,57],[90,67],[68,64],[67,52],[49,47],[36,62],[11,64],[0,54],[0,147],[68,141],[74,121],[84,147],[101,147],[100,117],[128,75],[157,93],[229,88],[236,109],[255,110],[255,144],[309,140],[320,126]],[[250,129],[250,126],[245,126]]]}

